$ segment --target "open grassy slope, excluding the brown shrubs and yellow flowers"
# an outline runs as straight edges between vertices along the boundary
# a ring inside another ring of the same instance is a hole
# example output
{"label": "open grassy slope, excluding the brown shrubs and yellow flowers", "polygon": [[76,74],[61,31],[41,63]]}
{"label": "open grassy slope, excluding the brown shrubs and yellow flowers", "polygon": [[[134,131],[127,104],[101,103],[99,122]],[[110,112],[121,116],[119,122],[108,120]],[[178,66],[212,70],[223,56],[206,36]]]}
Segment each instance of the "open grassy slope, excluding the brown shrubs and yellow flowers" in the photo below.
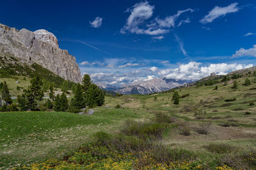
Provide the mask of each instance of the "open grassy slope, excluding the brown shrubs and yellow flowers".
{"label": "open grassy slope, excluding the brown shrubs and yellow flowers", "polygon": [[[251,77],[251,81],[255,81]],[[250,102],[256,104],[256,87],[242,85],[245,78],[239,78],[239,89],[231,89],[232,81],[227,86],[219,83],[209,87],[183,88],[178,90],[180,96],[189,93],[188,97],[180,99],[179,106],[173,104],[173,93],[154,96],[132,95],[120,97],[106,97],[105,104],[110,108],[100,107],[92,116],[76,115],[74,113],[42,113],[16,112],[0,113],[0,162],[9,167],[20,162],[42,162],[50,157],[61,158],[72,152],[83,143],[90,141],[96,131],[117,133],[127,118],[145,120],[154,113],[168,113],[177,118],[177,124],[186,124],[191,128],[191,136],[182,136],[179,129],[166,134],[163,143],[178,148],[187,148],[199,152],[205,162],[218,157],[209,153],[204,146],[209,143],[228,143],[240,148],[240,151],[253,147],[256,137],[256,106],[248,106]],[[11,80],[10,80],[11,81]],[[236,97],[236,101],[224,99]],[[124,104],[125,110],[114,109],[116,104]],[[206,111],[205,118],[196,120],[196,110]],[[245,115],[250,111],[251,115]],[[194,128],[200,122],[211,121],[209,135],[198,134]],[[235,126],[222,127],[224,122]],[[1,164],[0,164],[1,167]]]}

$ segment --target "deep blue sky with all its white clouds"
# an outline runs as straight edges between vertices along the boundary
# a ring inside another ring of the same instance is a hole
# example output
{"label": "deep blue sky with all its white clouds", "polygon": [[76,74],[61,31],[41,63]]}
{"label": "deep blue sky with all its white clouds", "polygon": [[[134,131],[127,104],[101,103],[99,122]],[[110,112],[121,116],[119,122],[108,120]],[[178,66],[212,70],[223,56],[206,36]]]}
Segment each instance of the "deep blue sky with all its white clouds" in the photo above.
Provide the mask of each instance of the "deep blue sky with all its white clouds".
{"label": "deep blue sky with all its white clouds", "polygon": [[46,29],[104,85],[195,81],[255,66],[255,0],[1,1],[0,23]]}

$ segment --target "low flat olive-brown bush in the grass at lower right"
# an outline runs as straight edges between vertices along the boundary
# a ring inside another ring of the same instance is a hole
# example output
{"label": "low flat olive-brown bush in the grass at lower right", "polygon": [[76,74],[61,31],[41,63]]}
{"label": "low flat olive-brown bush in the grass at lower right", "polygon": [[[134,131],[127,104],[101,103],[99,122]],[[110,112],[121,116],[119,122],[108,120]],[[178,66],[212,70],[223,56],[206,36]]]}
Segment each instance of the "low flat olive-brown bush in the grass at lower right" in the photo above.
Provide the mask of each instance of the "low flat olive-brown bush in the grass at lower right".
{"label": "low flat olive-brown bush in the grass at lower right", "polygon": [[227,144],[214,144],[214,143],[204,146],[204,148],[211,153],[220,153],[220,154],[234,152],[237,149]]}

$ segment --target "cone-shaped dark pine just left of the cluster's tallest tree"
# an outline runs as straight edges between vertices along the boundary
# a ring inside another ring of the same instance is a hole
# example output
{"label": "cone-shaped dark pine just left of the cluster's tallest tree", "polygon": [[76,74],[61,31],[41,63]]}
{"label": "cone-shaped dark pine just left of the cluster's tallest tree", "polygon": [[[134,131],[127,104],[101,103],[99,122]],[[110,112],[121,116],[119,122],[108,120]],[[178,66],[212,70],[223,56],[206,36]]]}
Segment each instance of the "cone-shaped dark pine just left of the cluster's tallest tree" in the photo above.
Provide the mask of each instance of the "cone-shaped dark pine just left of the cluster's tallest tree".
{"label": "cone-shaped dark pine just left of the cluster's tallest tree", "polygon": [[85,108],[84,95],[82,92],[81,85],[79,83],[76,85],[76,92],[72,106],[74,106],[74,108],[78,110]]}

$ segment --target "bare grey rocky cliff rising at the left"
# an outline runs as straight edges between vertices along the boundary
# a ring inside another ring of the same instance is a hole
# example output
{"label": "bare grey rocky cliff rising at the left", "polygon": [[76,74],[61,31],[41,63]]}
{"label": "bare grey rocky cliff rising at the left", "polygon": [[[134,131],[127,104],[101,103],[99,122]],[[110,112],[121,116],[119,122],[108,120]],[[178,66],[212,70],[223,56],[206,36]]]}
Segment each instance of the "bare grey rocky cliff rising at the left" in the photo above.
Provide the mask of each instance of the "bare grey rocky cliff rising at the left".
{"label": "bare grey rocky cliff rising at the left", "polygon": [[29,64],[36,62],[65,80],[82,80],[76,58],[61,50],[56,36],[44,29],[32,32],[0,24],[0,57],[3,56],[18,57]]}

